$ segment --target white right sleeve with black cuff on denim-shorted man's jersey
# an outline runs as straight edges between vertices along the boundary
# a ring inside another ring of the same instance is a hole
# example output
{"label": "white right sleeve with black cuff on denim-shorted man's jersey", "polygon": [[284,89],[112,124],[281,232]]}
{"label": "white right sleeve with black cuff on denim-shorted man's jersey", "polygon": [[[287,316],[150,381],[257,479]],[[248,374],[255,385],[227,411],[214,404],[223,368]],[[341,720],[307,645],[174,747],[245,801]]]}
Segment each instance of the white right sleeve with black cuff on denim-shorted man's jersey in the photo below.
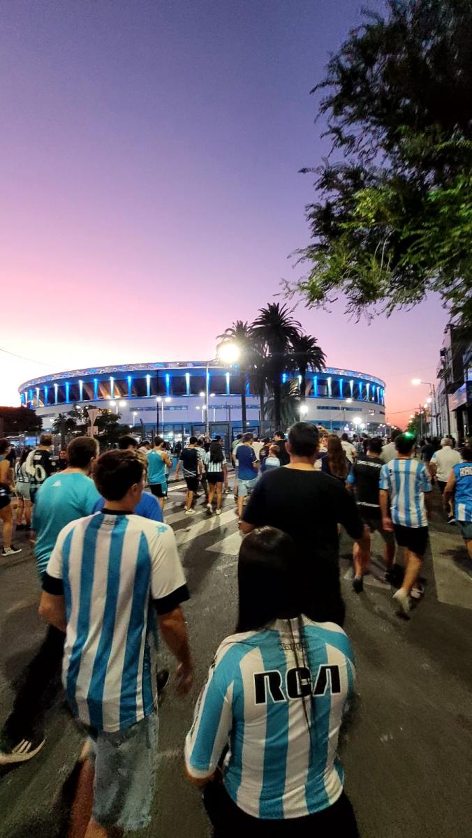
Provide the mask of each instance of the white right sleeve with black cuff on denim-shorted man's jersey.
{"label": "white right sleeve with black cuff on denim-shorted man's jersey", "polygon": [[148,540],[151,551],[151,597],[158,614],[168,614],[189,599],[189,590],[174,530],[166,524],[156,524],[155,527],[153,537]]}

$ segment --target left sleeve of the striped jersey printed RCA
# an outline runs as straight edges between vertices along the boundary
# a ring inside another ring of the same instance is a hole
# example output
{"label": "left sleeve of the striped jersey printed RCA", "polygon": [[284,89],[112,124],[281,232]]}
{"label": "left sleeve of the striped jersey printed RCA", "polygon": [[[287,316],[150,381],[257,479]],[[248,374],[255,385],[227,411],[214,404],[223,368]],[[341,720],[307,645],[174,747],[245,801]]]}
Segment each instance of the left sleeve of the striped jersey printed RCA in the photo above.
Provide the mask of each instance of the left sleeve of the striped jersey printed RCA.
{"label": "left sleeve of the striped jersey printed RCA", "polygon": [[215,661],[195,706],[194,723],[185,739],[185,765],[191,777],[204,779],[215,771],[232,727],[232,680]]}

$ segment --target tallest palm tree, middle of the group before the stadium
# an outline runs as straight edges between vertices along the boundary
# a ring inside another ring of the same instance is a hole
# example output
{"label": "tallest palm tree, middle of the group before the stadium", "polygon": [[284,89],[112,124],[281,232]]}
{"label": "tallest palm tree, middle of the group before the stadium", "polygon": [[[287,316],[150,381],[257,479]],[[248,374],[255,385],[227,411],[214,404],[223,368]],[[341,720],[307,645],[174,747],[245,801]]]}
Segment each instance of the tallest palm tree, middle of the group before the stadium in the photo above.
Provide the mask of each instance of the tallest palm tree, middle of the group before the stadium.
{"label": "tallest palm tree, middle of the group before the stadium", "polygon": [[292,344],[301,334],[301,323],[280,303],[268,303],[252,323],[252,335],[267,347],[268,379],[272,385],[273,417],[276,427],[282,422],[282,374],[293,370]]}

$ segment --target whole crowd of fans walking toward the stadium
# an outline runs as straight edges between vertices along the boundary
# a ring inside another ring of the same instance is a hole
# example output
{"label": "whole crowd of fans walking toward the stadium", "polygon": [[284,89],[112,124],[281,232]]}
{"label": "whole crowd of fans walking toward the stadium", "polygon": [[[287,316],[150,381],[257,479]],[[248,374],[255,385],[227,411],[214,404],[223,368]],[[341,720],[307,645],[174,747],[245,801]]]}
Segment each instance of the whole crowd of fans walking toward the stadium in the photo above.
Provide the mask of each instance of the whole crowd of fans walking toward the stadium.
{"label": "whole crowd of fans walking toward the stadium", "polygon": [[[195,515],[200,482],[207,513],[215,503],[220,514],[231,460],[243,536],[236,628],[215,653],[184,743],[186,772],[204,788],[215,838],[241,830],[358,835],[336,753],[355,680],[343,629],[340,527],[354,541],[356,593],[371,535],[380,533],[385,579],[404,615],[423,595],[432,479],[472,558],[472,449],[452,458],[444,439],[422,461],[415,443],[398,433],[386,444],[378,437],[353,444],[297,422],[288,438],[239,435],[229,458],[218,437],[190,437],[179,451],[185,515]],[[39,613],[48,623],[0,732],[0,765],[39,753],[51,685],[62,673],[88,742],[69,838],[103,838],[142,829],[151,817],[158,694],[169,679],[157,668],[156,625],[177,661],[179,693],[194,679],[182,608],[190,592],[174,530],[163,522],[173,461],[162,437],[151,445],[125,436],[101,454],[94,438],[76,437],[60,465],[51,444],[44,434],[12,463],[8,440],[0,440],[3,556],[19,550],[11,544],[14,489],[17,528],[24,516],[34,531]]]}

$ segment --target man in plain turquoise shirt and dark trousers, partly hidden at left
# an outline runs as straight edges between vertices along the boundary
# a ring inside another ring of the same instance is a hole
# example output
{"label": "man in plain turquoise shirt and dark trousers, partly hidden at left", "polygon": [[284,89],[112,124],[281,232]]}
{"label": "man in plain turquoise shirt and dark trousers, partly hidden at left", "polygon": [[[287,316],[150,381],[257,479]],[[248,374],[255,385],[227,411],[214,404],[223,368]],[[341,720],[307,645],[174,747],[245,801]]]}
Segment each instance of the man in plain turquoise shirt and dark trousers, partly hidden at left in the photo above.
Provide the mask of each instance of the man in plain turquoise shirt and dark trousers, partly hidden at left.
{"label": "man in plain turquoise shirt and dark trousers, partly hidden at left", "polygon": [[[39,488],[32,523],[37,535],[34,555],[41,582],[60,530],[70,521],[91,515],[100,498],[88,476],[97,453],[96,439],[76,437],[67,447],[68,467],[52,474]],[[64,633],[49,626],[39,652],[25,671],[13,710],[0,734],[0,765],[24,762],[43,747],[44,715],[57,696],[57,690],[51,691],[51,684],[60,679],[63,648]]]}

